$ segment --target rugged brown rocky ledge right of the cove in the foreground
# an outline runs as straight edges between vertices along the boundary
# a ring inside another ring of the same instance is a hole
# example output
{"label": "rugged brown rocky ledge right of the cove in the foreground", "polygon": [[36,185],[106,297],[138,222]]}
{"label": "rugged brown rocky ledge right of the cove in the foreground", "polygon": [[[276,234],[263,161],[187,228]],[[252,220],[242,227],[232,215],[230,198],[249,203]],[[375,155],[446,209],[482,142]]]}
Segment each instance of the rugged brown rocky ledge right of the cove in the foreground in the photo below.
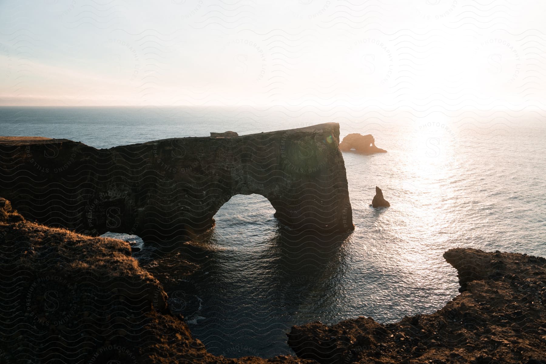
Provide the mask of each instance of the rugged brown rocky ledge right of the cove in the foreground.
{"label": "rugged brown rocky ledge right of the cove in the foreground", "polygon": [[461,294],[434,314],[294,326],[288,344],[319,363],[546,363],[546,259],[450,249]]}

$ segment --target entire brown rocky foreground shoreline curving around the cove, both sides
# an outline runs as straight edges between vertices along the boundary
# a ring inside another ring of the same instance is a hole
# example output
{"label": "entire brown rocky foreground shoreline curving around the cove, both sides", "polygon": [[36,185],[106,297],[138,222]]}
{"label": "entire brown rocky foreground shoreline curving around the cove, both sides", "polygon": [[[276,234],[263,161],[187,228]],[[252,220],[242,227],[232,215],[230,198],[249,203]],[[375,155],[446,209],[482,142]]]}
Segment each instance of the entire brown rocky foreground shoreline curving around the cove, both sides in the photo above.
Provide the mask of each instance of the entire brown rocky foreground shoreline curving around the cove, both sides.
{"label": "entire brown rocky foreground shoreline curving around the cove, both sides", "polygon": [[0,363],[546,363],[546,259],[451,249],[461,294],[431,315],[294,326],[298,357],[207,353],[129,244],[28,222],[0,199]]}

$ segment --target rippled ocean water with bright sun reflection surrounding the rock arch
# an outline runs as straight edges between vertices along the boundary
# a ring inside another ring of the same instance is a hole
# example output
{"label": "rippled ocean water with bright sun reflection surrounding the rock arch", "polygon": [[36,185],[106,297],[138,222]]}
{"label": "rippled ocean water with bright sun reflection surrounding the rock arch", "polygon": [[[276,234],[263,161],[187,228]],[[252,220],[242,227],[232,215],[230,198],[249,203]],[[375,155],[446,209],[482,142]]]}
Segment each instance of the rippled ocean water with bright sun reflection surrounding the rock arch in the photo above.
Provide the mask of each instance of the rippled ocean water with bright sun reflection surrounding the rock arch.
{"label": "rippled ocean water with bright sun reflection surrounding the rock arch", "polygon": [[[458,294],[453,247],[546,256],[546,124],[536,117],[383,115],[335,108],[0,108],[0,135],[104,148],[162,138],[240,135],[335,121],[388,153],[343,153],[353,234],[294,242],[269,201],[236,195],[216,226],[168,254],[136,254],[174,312],[214,354],[292,354],[292,325],[360,315],[388,323]],[[375,186],[391,207],[370,207]],[[121,236],[143,245],[135,236]],[[307,238],[310,239],[310,238]]]}

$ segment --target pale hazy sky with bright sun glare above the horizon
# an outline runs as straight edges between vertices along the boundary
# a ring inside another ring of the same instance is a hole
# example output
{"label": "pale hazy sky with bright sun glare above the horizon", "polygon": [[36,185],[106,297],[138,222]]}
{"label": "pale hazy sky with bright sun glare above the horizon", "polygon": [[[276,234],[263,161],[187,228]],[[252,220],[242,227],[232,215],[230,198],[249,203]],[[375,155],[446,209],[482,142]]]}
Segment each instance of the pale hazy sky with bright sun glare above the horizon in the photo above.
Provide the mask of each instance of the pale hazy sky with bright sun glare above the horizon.
{"label": "pale hazy sky with bright sun glare above the horizon", "polygon": [[3,0],[0,105],[544,109],[545,9],[505,0]]}

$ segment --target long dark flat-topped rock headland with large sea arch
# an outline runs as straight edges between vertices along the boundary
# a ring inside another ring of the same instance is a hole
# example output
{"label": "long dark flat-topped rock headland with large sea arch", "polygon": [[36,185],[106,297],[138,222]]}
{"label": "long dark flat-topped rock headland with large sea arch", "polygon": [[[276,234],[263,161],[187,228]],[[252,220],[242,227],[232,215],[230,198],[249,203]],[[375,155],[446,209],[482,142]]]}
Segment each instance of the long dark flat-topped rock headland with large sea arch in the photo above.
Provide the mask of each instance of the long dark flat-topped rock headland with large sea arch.
{"label": "long dark flat-topped rock headland with large sea arch", "polygon": [[260,194],[298,231],[354,229],[339,124],[96,148],[0,139],[0,195],[25,217],[89,235],[192,237],[236,194]]}

